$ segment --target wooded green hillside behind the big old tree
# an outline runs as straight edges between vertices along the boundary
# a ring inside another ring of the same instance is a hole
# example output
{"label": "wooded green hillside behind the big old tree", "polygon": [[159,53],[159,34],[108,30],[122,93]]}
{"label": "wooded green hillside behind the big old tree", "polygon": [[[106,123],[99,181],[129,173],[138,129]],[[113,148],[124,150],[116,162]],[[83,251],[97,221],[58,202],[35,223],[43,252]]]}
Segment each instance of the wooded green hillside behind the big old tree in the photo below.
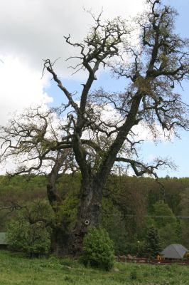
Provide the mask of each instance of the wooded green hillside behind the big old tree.
{"label": "wooded green hillside behind the big old tree", "polygon": [[[144,256],[151,225],[158,229],[161,248],[171,243],[189,248],[189,178],[166,177],[159,182],[146,177],[109,177],[104,187],[100,224],[113,240],[115,254]],[[6,176],[0,177],[0,232],[6,231],[6,224],[18,219],[23,209],[27,209],[32,223],[48,220],[45,185],[45,176],[21,175],[10,181]],[[77,215],[80,174],[60,177],[57,188],[63,202],[53,223],[63,222],[69,232]],[[31,209],[36,211],[33,216]],[[51,216],[49,221],[52,222]]]}

